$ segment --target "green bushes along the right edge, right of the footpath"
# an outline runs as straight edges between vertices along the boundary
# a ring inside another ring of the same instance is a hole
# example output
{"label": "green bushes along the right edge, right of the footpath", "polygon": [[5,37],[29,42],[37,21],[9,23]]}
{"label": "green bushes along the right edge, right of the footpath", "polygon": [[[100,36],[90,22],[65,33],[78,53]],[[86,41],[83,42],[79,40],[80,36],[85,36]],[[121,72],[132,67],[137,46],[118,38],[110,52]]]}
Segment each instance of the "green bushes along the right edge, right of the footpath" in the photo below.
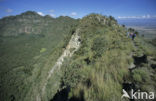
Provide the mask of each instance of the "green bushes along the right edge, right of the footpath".
{"label": "green bushes along the right edge, right of the footpath", "polygon": [[136,88],[142,91],[156,92],[156,76],[155,76],[155,64],[156,64],[156,47],[151,42],[137,37],[134,41],[135,50],[134,56],[147,55],[147,62],[142,59],[141,64],[136,65],[136,69],[132,71],[132,81],[135,82]]}

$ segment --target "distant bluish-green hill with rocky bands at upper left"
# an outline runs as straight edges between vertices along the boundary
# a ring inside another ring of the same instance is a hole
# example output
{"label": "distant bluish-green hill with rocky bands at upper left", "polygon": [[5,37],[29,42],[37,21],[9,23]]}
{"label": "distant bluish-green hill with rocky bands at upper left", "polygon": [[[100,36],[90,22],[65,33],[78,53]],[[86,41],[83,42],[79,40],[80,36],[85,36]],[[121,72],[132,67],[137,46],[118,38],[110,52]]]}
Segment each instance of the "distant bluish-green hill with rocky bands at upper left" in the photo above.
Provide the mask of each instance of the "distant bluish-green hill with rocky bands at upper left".
{"label": "distant bluish-green hill with rocky bands at upper left", "polygon": [[59,28],[68,27],[67,23],[72,25],[74,21],[75,20],[70,17],[62,16],[55,19],[48,15],[40,16],[36,12],[27,11],[17,16],[0,19],[0,35],[48,34],[59,30]]}

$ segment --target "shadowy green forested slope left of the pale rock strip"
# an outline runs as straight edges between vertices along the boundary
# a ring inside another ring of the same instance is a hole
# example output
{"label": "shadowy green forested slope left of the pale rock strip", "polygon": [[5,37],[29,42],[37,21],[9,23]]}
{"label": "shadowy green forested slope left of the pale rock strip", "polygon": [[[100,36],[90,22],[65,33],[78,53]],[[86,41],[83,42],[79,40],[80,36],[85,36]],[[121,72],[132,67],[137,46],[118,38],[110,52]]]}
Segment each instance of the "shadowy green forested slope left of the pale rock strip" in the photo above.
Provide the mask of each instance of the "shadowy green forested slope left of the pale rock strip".
{"label": "shadowy green forested slope left of the pale rock strip", "polygon": [[[42,17],[28,11],[2,18],[0,23],[0,100],[34,101],[77,20]],[[33,30],[27,33],[25,26]]]}

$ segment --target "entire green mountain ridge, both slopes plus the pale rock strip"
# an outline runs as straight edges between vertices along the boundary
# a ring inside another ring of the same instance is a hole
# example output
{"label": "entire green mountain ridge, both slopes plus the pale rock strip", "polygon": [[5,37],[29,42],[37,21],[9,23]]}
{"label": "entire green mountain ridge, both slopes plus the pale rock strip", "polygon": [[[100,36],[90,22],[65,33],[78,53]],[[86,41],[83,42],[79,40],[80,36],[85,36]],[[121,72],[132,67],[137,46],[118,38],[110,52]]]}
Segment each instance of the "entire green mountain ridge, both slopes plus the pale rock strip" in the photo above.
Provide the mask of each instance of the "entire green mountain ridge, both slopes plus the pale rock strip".
{"label": "entire green mountain ridge, both slopes plus the pale rock strip", "polygon": [[76,20],[29,11],[2,23],[2,101],[129,101],[122,89],[156,91],[155,46],[139,36],[132,41],[112,16]]}

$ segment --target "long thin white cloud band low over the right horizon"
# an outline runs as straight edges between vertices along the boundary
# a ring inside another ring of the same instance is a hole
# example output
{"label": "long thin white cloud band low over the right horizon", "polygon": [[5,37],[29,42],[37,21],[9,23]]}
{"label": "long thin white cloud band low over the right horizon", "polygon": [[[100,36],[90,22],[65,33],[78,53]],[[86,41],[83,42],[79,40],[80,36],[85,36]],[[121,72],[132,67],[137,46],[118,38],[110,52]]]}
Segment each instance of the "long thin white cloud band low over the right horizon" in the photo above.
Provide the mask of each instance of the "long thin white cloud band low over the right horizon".
{"label": "long thin white cloud band low over the right horizon", "polygon": [[156,18],[156,16],[151,16],[149,14],[143,16],[118,16],[118,19],[150,19]]}

